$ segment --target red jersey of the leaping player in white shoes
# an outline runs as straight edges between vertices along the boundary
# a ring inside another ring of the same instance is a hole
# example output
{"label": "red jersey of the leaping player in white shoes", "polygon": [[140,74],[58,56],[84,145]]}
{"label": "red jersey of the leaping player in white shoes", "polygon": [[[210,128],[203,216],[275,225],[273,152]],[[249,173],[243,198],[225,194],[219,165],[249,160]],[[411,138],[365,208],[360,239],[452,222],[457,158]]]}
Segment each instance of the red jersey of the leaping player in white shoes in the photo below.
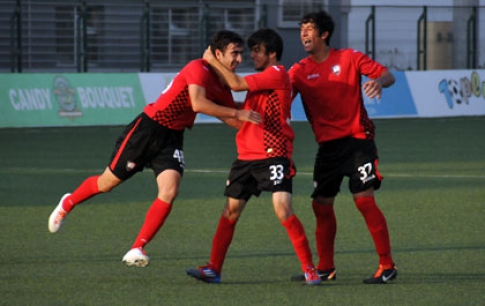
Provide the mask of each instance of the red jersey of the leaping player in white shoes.
{"label": "red jersey of the leaping player in white shoes", "polygon": [[204,87],[206,98],[212,102],[236,108],[231,90],[219,80],[206,61],[197,59],[182,68],[158,99],[145,106],[143,112],[170,129],[191,128],[196,113],[189,97],[190,84]]}

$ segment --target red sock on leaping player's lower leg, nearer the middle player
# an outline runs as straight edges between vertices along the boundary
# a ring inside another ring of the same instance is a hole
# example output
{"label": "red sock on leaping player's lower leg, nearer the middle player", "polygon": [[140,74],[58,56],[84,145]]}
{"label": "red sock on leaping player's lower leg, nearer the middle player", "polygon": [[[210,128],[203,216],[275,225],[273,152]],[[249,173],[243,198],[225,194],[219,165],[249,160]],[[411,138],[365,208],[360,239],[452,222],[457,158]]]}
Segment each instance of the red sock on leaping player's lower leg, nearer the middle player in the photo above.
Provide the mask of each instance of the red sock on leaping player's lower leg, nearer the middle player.
{"label": "red sock on leaping player's lower leg, nearer the middle player", "polygon": [[171,204],[168,204],[159,198],[155,199],[152,206],[150,206],[147,211],[145,222],[131,248],[142,248],[149,243],[162,227],[171,210]]}

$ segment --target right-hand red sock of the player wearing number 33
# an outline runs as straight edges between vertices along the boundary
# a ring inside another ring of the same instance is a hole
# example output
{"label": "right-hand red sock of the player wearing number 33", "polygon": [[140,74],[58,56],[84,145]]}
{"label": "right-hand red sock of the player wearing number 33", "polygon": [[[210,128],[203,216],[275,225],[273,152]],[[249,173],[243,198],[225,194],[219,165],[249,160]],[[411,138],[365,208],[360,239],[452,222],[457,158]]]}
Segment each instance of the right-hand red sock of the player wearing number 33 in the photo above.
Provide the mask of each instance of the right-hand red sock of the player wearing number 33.
{"label": "right-hand red sock of the player wearing number 33", "polygon": [[306,268],[313,267],[312,251],[310,250],[305,229],[303,228],[300,219],[293,214],[281,224],[286,228],[288,237],[295,249],[296,256],[298,256],[298,259],[300,260],[302,270],[305,271]]}

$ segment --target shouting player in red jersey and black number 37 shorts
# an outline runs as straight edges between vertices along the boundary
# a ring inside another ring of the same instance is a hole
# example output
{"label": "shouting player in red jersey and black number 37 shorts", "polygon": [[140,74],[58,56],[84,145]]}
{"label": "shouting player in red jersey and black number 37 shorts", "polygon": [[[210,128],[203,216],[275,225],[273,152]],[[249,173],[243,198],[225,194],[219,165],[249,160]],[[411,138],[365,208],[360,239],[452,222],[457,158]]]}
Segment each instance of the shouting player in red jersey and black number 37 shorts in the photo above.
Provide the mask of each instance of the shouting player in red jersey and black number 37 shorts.
{"label": "shouting player in red jersey and black number 37 shorts", "polygon": [[[329,46],[334,22],[326,12],[305,15],[300,39],[309,56],[289,70],[293,96],[301,96],[307,119],[319,149],[314,166],[312,207],[316,217],[317,269],[322,280],[334,280],[334,244],[337,221],[335,197],[344,176],[365,219],[379,255],[379,268],[365,279],[367,284],[387,283],[396,278],[386,219],[376,205],[374,190],[382,176],[377,170],[374,124],[364,107],[362,90],[369,98],[380,98],[382,88],[391,86],[394,75],[365,54],[336,50]],[[370,78],[361,85],[362,75]],[[303,280],[302,276],[293,280]]]}

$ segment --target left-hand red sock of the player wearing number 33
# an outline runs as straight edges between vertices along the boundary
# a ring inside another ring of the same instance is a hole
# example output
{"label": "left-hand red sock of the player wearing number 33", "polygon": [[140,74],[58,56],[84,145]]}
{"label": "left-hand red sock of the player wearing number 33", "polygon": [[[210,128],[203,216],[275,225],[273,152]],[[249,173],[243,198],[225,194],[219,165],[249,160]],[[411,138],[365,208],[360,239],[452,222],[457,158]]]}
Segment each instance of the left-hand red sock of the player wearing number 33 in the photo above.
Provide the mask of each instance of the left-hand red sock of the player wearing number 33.
{"label": "left-hand red sock of the player wearing number 33", "polygon": [[212,239],[212,251],[210,257],[210,266],[221,273],[227,250],[231,244],[234,231],[236,230],[237,220],[230,220],[224,216],[219,219],[219,225]]}

